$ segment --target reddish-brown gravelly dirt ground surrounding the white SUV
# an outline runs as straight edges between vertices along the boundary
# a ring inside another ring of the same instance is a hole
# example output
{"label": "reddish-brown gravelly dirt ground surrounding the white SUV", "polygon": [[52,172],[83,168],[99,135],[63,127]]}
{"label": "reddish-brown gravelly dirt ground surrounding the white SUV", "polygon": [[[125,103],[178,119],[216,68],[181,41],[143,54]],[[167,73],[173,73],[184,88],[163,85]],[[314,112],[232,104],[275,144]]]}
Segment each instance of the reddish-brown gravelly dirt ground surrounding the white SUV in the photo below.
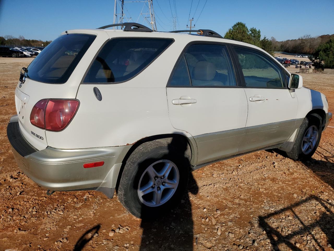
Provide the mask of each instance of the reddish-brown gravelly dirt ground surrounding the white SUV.
{"label": "reddish-brown gravelly dirt ground surrounding the white SUV", "polygon": [[[333,128],[311,161],[259,151],[194,171],[182,203],[158,221],[136,219],[100,192],[47,196],[18,168],[6,136],[19,72],[30,61],[0,58],[1,251],[334,250]],[[333,112],[334,75],[303,79]]]}

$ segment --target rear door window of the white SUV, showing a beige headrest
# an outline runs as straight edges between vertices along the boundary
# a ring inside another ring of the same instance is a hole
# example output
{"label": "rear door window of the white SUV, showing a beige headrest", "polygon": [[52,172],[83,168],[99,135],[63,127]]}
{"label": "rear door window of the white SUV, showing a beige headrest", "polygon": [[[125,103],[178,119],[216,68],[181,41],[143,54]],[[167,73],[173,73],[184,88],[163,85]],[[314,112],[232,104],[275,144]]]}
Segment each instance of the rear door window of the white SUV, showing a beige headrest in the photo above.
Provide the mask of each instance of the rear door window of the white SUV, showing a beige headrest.
{"label": "rear door window of the white SUV, showing a beige headrest", "polygon": [[[190,83],[189,83],[190,76]],[[236,86],[235,74],[226,46],[189,46],[178,62],[168,86]]]}

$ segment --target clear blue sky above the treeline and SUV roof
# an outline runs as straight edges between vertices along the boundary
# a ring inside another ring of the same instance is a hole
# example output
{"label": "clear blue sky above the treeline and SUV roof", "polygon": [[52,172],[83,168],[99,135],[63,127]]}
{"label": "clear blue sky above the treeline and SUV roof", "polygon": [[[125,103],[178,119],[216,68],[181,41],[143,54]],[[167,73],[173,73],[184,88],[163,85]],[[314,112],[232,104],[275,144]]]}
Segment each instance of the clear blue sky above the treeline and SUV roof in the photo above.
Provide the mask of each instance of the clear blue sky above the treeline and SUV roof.
{"label": "clear blue sky above the treeline and SUV roof", "polygon": [[[186,29],[191,3],[190,18],[196,28],[221,35],[238,21],[279,41],[334,33],[334,0],[153,0],[158,30],[172,30],[176,14],[177,29]],[[127,17],[137,22],[143,5],[125,3]],[[0,36],[53,40],[64,30],[111,24],[113,14],[114,0],[0,0]],[[138,22],[148,25],[143,18]]]}

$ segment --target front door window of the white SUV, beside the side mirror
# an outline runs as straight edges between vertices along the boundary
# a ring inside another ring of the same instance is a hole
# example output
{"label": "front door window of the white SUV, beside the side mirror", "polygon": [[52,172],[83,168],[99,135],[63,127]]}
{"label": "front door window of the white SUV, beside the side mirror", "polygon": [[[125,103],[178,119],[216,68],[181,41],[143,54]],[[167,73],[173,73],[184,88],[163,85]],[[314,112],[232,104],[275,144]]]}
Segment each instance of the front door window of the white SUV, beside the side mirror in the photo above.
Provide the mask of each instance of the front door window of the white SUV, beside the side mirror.
{"label": "front door window of the white SUV, beside the side mirror", "polygon": [[262,53],[234,48],[238,55],[246,87],[283,88],[282,69]]}

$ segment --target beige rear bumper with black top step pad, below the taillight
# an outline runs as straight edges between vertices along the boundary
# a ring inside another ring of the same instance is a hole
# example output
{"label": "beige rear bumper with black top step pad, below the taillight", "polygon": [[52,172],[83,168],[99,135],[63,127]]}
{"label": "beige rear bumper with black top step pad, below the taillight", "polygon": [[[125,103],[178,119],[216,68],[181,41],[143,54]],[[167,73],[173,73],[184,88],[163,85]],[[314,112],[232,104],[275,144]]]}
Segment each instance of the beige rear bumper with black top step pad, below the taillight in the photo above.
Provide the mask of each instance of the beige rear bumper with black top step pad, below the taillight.
{"label": "beige rear bumper with black top step pad, below the taillight", "polygon": [[[7,135],[16,163],[39,186],[52,191],[98,190],[108,197],[114,195],[122,161],[131,147],[37,151],[23,138],[17,121],[8,124]],[[103,166],[83,168],[100,161]]]}

